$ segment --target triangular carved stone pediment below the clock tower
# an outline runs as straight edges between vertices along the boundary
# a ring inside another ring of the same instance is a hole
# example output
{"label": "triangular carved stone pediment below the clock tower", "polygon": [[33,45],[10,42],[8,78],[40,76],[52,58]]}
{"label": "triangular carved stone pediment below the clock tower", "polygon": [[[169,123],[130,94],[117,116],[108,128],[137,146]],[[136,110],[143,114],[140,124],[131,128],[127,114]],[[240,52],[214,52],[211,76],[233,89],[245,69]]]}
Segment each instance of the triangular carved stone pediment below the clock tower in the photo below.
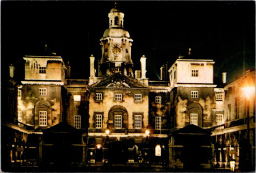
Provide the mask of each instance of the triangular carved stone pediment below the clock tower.
{"label": "triangular carved stone pediment below the clock tower", "polygon": [[125,75],[116,73],[111,76],[105,77],[103,80],[92,84],[91,88],[148,88],[137,79],[127,77]]}

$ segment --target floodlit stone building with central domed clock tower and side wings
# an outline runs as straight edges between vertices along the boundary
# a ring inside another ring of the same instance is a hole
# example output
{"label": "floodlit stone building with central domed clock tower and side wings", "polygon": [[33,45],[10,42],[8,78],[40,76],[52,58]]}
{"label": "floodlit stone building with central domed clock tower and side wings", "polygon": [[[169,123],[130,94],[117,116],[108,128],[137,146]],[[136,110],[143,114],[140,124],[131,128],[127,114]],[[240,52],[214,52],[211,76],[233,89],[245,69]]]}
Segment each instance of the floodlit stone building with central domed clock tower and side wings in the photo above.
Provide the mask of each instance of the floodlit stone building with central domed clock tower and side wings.
{"label": "floodlit stone building with central domed clock tower and side wings", "polygon": [[150,80],[147,57],[134,69],[124,13],[113,8],[108,17],[100,61],[91,55],[81,69],[88,79],[71,79],[69,62],[56,53],[26,55],[22,80],[10,65],[3,165],[253,168],[255,91],[245,100],[241,87],[255,87],[255,71],[230,84],[224,72],[215,84],[215,62],[189,49]]}

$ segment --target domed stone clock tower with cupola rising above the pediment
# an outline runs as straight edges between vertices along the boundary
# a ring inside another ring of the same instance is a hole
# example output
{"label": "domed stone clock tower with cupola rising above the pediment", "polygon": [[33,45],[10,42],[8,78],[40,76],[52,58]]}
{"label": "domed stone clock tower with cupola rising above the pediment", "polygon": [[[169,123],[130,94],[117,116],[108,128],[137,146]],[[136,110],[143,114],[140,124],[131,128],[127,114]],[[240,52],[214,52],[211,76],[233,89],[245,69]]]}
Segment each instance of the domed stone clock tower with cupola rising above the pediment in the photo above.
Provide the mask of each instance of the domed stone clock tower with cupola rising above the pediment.
{"label": "domed stone clock tower with cupola rising above the pediment", "polygon": [[109,28],[100,39],[102,57],[99,62],[99,76],[121,73],[133,77],[131,46],[133,40],[124,28],[124,13],[116,7],[108,14]]}

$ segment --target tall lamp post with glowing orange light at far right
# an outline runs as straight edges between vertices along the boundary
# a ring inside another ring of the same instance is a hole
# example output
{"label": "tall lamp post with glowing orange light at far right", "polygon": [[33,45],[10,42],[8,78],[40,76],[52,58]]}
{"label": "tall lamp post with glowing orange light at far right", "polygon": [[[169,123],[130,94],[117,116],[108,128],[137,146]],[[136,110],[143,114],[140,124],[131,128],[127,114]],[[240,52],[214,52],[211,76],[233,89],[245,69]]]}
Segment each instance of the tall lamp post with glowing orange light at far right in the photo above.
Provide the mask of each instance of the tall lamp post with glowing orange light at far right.
{"label": "tall lamp post with glowing orange light at far right", "polygon": [[[247,102],[247,106],[246,106],[246,115],[247,115],[247,161],[246,163],[248,164],[248,166],[246,166],[248,169],[251,168],[251,147],[250,147],[250,99],[252,95],[255,95],[255,87],[243,87],[242,88],[243,94],[246,98],[246,102]],[[246,104],[245,104],[246,105]]]}

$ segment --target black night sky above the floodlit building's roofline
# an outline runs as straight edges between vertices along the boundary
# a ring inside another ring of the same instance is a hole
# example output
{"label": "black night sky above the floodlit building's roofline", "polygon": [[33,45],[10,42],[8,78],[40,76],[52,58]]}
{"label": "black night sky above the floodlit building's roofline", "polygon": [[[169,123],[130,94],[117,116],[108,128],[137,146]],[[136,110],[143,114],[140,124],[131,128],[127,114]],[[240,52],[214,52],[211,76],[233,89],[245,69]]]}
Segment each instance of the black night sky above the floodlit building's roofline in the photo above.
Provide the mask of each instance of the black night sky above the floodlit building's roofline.
{"label": "black night sky above the floodlit building's roofline", "polygon": [[[72,78],[88,78],[89,56],[101,58],[100,38],[113,2],[1,2],[2,78],[8,65],[20,76],[24,55],[41,54],[44,44],[70,61]],[[215,76],[228,80],[255,67],[255,2],[118,2],[124,27],[134,40],[132,59],[147,57],[147,76],[158,79],[160,66],[173,63],[188,48],[198,58],[214,59]]]}

